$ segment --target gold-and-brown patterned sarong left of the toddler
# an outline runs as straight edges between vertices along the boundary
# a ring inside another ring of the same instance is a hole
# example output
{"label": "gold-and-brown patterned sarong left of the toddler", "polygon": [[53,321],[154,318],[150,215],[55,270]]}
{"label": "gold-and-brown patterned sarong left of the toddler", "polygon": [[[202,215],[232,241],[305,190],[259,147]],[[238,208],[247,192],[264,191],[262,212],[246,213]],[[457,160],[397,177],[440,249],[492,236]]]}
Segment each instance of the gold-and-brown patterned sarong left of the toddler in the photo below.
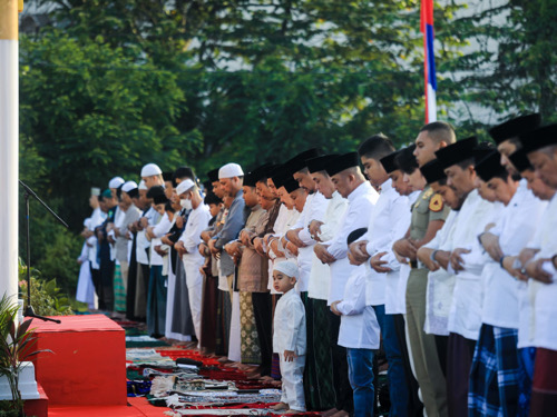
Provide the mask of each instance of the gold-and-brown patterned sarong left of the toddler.
{"label": "gold-and-brown patterned sarong left of the toddler", "polygon": [[261,347],[251,292],[240,291],[240,326],[242,364],[260,365]]}

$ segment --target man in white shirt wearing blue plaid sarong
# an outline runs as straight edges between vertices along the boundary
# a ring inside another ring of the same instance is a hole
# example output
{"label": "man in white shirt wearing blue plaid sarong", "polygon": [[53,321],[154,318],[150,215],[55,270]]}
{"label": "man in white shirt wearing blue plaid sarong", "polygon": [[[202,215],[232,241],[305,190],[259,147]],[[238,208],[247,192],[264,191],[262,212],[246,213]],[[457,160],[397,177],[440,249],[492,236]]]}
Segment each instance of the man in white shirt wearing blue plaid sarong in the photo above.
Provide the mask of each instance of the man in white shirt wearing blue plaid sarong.
{"label": "man in white shirt wearing blue plaid sarong", "polygon": [[[506,416],[528,414],[524,410],[528,408],[529,395],[520,393],[525,373],[517,348],[521,285],[504,269],[504,262],[507,256],[517,256],[528,244],[547,205],[527,189],[526,179],[516,181],[520,176],[509,160],[511,152],[521,146],[517,137],[538,125],[539,115],[531,115],[509,120],[489,131],[501,153],[488,157],[494,160],[494,172],[487,185],[505,207],[495,227],[479,236],[489,258],[482,272],[482,325],[470,374],[469,405],[472,411],[483,413],[489,408]],[[505,166],[505,173],[497,172],[499,163]],[[489,159],[481,165],[487,165],[489,170]],[[487,178],[483,175],[482,179]]]}

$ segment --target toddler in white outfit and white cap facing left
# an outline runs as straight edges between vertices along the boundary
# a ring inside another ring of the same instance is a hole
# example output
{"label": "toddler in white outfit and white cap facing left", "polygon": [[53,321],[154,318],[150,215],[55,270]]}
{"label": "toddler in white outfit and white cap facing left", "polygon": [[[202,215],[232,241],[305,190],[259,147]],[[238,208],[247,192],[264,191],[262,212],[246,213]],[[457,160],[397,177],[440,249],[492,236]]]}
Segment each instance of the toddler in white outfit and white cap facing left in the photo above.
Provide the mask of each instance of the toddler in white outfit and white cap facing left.
{"label": "toddler in white outfit and white cap facing left", "polygon": [[273,320],[273,353],[278,354],[282,374],[281,403],[275,410],[305,411],[303,374],[305,367],[305,309],[293,290],[299,269],[293,261],[274,266],[273,287],[283,296],[276,304]]}

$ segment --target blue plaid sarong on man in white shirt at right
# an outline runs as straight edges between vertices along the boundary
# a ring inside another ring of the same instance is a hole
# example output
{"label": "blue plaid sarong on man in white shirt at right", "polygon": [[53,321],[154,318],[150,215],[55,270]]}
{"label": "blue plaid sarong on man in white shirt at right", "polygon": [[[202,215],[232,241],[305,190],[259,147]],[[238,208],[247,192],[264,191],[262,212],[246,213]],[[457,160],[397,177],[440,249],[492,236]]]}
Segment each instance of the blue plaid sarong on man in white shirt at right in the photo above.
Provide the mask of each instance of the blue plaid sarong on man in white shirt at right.
{"label": "blue plaid sarong on man in white shirt at right", "polygon": [[517,329],[481,325],[470,370],[470,416],[518,415],[524,368],[519,363],[517,344]]}

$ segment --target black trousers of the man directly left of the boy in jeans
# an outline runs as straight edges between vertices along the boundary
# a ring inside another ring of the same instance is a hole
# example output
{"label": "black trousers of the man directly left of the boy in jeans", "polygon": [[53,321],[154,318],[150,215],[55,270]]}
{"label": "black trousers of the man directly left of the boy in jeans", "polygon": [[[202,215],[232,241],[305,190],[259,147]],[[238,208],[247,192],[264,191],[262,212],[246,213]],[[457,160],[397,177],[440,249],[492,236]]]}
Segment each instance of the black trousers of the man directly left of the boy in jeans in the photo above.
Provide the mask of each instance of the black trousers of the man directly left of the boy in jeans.
{"label": "black trousers of the man directly left of the boy in jeans", "polygon": [[352,415],[354,410],[354,398],[350,386],[346,348],[339,346],[339,329],[341,318],[329,311],[329,346],[331,347],[331,358],[333,359],[333,385],[336,397],[335,408]]}

